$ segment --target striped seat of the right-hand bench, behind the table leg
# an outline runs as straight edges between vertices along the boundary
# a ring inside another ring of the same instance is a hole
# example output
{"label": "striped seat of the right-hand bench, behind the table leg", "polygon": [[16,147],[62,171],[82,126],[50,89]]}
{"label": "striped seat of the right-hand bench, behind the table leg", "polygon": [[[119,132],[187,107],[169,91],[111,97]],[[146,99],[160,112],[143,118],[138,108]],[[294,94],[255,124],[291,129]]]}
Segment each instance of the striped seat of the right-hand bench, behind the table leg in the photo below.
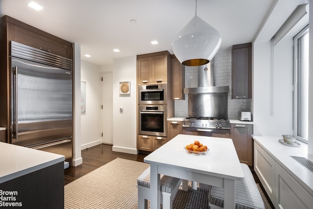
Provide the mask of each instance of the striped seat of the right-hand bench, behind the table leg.
{"label": "striped seat of the right-hand bench, behind the table leg", "polygon": [[[245,178],[235,181],[236,209],[264,209],[264,203],[258,187],[254,181],[250,168],[241,163]],[[223,209],[224,188],[211,186],[209,190],[209,206],[211,209]]]}

